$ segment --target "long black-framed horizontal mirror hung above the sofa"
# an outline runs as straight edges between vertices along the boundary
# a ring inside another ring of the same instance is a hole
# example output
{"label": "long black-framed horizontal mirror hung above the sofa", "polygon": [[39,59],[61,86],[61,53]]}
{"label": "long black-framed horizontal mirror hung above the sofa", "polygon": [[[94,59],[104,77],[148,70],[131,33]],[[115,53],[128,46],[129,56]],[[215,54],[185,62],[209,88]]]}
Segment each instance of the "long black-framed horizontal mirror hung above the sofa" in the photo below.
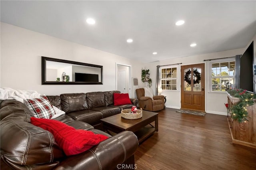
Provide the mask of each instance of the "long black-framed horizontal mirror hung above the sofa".
{"label": "long black-framed horizontal mirror hung above the sofa", "polygon": [[103,84],[103,66],[42,56],[42,85]]}

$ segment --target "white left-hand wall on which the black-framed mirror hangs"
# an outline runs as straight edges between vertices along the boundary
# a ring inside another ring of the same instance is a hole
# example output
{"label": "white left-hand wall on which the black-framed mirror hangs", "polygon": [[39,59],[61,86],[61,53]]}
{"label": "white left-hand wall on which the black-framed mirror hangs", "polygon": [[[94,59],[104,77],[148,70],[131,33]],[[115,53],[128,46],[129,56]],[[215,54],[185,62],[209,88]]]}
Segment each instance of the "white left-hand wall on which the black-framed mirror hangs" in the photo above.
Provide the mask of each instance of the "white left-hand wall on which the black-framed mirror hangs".
{"label": "white left-hand wall on which the black-framed mirror hangs", "polygon": [[[41,85],[41,56],[103,65],[103,85]],[[1,23],[1,87],[46,95],[116,90],[116,62],[131,65],[132,77],[140,77],[142,63]]]}

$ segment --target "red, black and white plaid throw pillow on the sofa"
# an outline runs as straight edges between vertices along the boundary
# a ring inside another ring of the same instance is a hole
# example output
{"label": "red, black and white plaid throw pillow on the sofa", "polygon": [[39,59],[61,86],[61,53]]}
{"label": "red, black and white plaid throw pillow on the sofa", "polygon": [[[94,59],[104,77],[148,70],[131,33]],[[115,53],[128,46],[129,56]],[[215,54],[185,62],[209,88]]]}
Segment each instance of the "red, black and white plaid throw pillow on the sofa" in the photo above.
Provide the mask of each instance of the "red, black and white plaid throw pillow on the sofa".
{"label": "red, black and white plaid throw pillow on the sofa", "polygon": [[46,96],[36,99],[24,99],[24,103],[36,118],[50,119],[55,111]]}

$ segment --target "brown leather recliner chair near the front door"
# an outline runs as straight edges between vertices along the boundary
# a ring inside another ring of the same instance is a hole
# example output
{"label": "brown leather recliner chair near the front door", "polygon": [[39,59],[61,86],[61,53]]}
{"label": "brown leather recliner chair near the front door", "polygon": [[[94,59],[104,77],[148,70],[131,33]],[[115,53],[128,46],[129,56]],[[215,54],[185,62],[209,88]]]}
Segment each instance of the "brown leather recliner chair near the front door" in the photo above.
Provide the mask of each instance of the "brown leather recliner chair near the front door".
{"label": "brown leather recliner chair near the front door", "polygon": [[139,106],[143,110],[146,111],[160,111],[164,109],[164,96],[153,96],[153,99],[151,97],[145,97],[145,91],[144,88],[136,89],[136,95],[139,101]]}

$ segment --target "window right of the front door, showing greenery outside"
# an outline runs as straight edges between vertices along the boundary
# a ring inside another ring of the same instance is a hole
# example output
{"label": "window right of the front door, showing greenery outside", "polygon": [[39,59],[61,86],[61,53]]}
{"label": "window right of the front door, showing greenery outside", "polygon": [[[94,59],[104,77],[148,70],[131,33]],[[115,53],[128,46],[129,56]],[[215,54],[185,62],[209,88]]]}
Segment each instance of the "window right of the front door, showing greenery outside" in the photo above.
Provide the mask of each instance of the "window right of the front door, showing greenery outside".
{"label": "window right of the front door, showing greenery outside", "polygon": [[227,91],[234,88],[235,61],[211,63],[211,91]]}

